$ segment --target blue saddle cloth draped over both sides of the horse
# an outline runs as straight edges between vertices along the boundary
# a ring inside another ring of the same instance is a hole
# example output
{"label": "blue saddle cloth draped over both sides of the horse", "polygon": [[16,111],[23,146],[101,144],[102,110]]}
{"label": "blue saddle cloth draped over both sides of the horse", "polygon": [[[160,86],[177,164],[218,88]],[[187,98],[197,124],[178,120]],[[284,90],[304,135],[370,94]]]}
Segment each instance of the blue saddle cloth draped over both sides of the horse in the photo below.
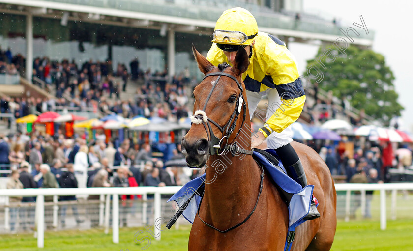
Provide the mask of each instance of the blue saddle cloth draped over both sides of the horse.
{"label": "blue saddle cloth draped over both sides of the horse", "polygon": [[[274,155],[274,150],[266,150],[267,152]],[[270,178],[277,184],[282,190],[292,195],[291,201],[288,206],[289,211],[289,233],[295,232],[295,228],[304,223],[306,220],[303,218],[308,214],[310,210],[311,198],[313,195],[314,185],[307,185],[302,188],[300,184],[295,182],[292,178],[287,176],[281,170],[274,167],[268,160],[260,153],[253,153],[254,159],[261,164],[269,174]],[[282,163],[278,164],[284,169]],[[258,177],[257,177],[258,178]],[[168,202],[176,201],[177,205],[180,206],[186,202],[197,190],[199,186],[205,180],[205,174],[191,180],[186,183],[175,195],[173,195]],[[202,195],[195,195],[188,207],[183,212],[183,216],[190,223],[193,223],[197,214],[198,206],[201,201]],[[294,238],[293,238],[294,240]],[[285,251],[291,249],[291,245],[288,245],[286,241]]]}

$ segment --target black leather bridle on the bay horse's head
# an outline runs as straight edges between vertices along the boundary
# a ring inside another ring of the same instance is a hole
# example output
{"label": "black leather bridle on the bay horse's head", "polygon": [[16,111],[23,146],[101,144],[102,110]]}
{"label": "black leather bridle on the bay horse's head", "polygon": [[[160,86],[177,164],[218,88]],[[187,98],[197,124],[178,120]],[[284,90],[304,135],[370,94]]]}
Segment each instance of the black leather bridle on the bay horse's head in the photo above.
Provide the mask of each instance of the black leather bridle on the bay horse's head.
{"label": "black leather bridle on the bay horse's head", "polygon": [[[228,78],[231,78],[232,80],[234,80],[238,86],[238,88],[241,90],[241,93],[239,94],[238,98],[236,99],[236,106],[235,109],[233,111],[233,113],[231,114],[231,117],[228,119],[228,122],[224,125],[224,126],[220,126],[217,122],[213,121],[211,118],[207,118],[207,121],[203,120],[203,115],[202,114],[195,114],[194,118],[199,119],[200,121],[202,121],[202,124],[204,125],[205,130],[207,131],[207,136],[208,136],[208,141],[209,141],[209,154],[210,155],[222,155],[224,153],[225,150],[229,150],[231,152],[231,154],[234,156],[236,153],[244,153],[244,154],[249,154],[252,155],[253,151],[250,150],[245,150],[240,148],[236,142],[235,139],[236,137],[239,136],[239,132],[241,131],[242,125],[245,122],[245,118],[246,118],[246,111],[247,111],[247,104],[245,102],[245,99],[243,97],[243,88],[242,85],[239,83],[239,81],[232,75],[224,73],[225,69],[227,67],[229,67],[229,64],[223,64],[223,70],[221,72],[212,72],[209,73],[207,75],[205,75],[204,79],[205,80],[207,77],[210,76],[218,76],[218,78],[215,80],[215,83],[212,86],[211,91],[209,92],[209,95],[207,97],[207,100],[204,104],[204,108],[203,111],[205,111],[205,109],[207,108],[207,104],[208,101],[210,99],[210,97],[212,96],[212,92],[214,91],[216,85],[218,84],[219,79],[221,78],[221,76],[225,76]],[[241,109],[243,109],[243,118],[242,118],[242,124],[241,127],[239,128],[239,131],[236,133],[236,137],[233,140],[233,143],[231,144],[223,144],[223,140],[226,138],[227,140],[230,138],[231,134],[234,132],[234,129],[236,127],[236,122],[238,121],[239,118],[239,114],[241,113]],[[231,121],[233,121],[231,123]],[[225,135],[219,139],[218,137],[215,136],[211,124],[214,124],[216,127],[218,127],[218,129],[224,133],[225,131]],[[221,152],[219,152],[219,150],[222,150]]]}

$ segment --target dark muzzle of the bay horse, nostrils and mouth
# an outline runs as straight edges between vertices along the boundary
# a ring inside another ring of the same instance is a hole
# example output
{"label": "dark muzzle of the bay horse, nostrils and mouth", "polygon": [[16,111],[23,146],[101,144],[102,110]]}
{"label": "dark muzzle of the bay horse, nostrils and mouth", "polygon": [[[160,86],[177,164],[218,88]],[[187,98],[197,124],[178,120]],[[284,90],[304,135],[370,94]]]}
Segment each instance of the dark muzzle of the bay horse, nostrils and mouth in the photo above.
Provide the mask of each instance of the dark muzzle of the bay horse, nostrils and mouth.
{"label": "dark muzzle of the bay horse, nostrils and mouth", "polygon": [[209,141],[207,139],[188,142],[184,137],[182,138],[181,148],[188,167],[201,168],[207,164],[209,158]]}

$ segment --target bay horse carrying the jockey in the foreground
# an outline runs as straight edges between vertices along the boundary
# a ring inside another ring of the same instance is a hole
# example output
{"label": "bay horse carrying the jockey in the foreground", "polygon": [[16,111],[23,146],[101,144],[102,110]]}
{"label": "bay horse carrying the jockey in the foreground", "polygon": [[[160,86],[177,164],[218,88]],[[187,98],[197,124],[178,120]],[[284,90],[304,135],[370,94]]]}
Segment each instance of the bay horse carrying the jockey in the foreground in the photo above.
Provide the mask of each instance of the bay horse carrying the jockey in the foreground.
{"label": "bay horse carrying the jockey in the foreground", "polygon": [[[182,139],[182,153],[189,167],[206,167],[206,183],[188,250],[282,251],[288,208],[266,172],[260,181],[263,170],[249,151],[250,118],[241,78],[249,64],[247,53],[241,47],[233,67],[215,67],[194,46],[192,50],[206,77],[194,89],[193,123]],[[313,149],[298,142],[291,144],[304,166],[308,184],[315,185],[321,215],[296,228],[292,250],[330,250],[337,224],[333,179]]]}

